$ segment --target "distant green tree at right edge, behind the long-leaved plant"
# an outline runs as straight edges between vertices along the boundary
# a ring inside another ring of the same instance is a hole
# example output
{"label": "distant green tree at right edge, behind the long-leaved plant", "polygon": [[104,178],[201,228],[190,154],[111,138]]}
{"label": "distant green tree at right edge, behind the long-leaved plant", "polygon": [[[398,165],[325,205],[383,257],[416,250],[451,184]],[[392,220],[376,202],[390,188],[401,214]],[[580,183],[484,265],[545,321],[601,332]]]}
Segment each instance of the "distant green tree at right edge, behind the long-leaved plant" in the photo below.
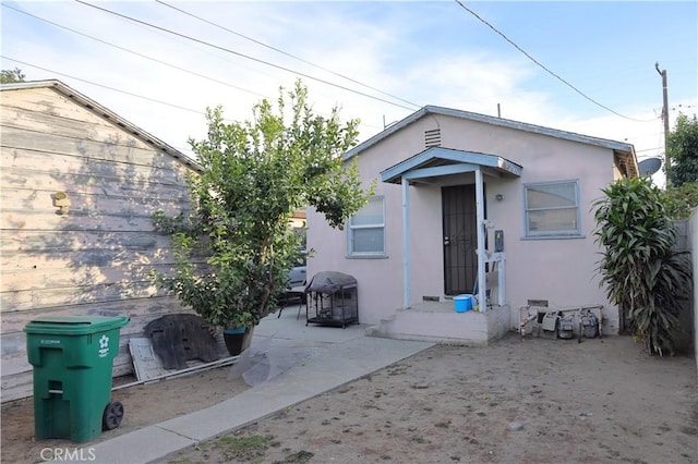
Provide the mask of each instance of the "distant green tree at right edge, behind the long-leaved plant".
{"label": "distant green tree at right edge, behind the long-leaved plant", "polygon": [[689,120],[679,114],[674,130],[667,137],[671,168],[667,183],[681,186],[686,182],[698,181],[698,120]]}

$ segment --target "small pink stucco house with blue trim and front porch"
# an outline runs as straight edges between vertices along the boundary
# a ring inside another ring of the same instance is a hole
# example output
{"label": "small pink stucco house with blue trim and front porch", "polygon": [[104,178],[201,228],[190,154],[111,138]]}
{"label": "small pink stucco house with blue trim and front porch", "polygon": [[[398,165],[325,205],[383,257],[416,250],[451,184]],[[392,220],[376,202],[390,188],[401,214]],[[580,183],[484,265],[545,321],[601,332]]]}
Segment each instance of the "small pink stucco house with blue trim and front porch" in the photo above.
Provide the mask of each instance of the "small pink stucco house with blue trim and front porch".
{"label": "small pink stucco house with blue trim and front porch", "polygon": [[[346,160],[375,196],[344,231],[309,209],[308,272],[353,276],[370,333],[486,344],[542,304],[599,306],[603,332],[618,331],[591,204],[638,175],[633,145],[428,106]],[[480,310],[455,312],[460,294]]]}

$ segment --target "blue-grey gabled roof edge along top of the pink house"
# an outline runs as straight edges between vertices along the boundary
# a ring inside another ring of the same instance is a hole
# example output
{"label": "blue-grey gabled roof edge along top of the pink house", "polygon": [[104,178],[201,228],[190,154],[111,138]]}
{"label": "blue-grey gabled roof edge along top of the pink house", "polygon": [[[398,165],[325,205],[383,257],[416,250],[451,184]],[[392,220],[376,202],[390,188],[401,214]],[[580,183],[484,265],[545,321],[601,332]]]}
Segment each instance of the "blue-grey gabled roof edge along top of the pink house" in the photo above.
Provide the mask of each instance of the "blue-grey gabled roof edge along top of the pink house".
{"label": "blue-grey gabled roof edge along top of the pink house", "polygon": [[578,142],[581,144],[595,145],[604,148],[609,148],[613,150],[616,162],[621,169],[625,171],[625,174],[628,176],[637,176],[638,175],[638,167],[637,167],[637,158],[635,156],[635,148],[631,144],[626,144],[622,142],[609,141],[605,138],[592,137],[589,135],[576,134],[574,132],[559,131],[556,129],[544,127],[542,125],[529,124],[519,121],[513,121],[503,118],[491,117],[486,114],[473,113],[470,111],[455,110],[450,108],[435,107],[435,106],[425,106],[420,110],[413,112],[401,121],[396,122],[392,126],[386,130],[380,132],[373,137],[369,138],[365,142],[357,145],[345,154],[345,160],[349,160],[353,156],[360,154],[361,151],[376,145],[384,138],[395,134],[401,129],[410,125],[414,121],[424,118],[429,114],[442,114],[454,118],[461,118],[470,121],[479,121],[485,124],[498,125],[502,127],[515,129],[518,131],[531,132],[534,134],[547,135],[555,138],[562,138],[571,142]]}

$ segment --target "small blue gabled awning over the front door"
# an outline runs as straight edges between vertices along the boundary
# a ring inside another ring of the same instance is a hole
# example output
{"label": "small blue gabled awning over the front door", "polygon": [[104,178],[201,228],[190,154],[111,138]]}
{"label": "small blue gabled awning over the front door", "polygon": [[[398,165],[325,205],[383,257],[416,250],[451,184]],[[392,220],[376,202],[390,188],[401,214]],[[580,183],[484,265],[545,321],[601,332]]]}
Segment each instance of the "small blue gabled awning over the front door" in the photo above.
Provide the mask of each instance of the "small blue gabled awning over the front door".
{"label": "small blue gabled awning over the front door", "polygon": [[443,175],[474,172],[519,178],[524,168],[497,155],[432,147],[381,172],[381,180],[393,184],[406,180],[428,180]]}

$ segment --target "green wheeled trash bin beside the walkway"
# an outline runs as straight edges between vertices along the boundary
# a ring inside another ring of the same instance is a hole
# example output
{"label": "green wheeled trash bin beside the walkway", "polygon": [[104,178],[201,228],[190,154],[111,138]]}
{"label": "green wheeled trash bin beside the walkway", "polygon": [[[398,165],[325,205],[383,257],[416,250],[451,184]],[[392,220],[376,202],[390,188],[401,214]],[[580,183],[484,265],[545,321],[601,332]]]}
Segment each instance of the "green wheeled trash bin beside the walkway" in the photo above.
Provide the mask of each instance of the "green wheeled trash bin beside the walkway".
{"label": "green wheeled trash bin beside the walkway", "polygon": [[111,402],[113,358],[122,317],[45,317],[28,322],[26,347],[34,367],[37,440],[85,442],[119,426],[123,406]]}

